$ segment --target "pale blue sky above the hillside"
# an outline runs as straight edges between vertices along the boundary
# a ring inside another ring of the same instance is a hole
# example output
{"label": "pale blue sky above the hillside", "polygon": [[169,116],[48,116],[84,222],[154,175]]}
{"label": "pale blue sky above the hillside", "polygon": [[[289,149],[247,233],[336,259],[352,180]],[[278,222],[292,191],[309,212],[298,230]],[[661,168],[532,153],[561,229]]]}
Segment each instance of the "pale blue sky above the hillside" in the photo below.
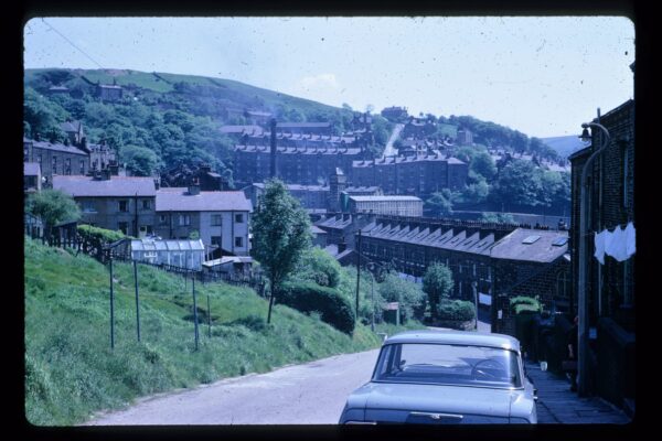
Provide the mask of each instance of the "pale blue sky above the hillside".
{"label": "pale blue sky above the hillside", "polygon": [[633,98],[624,17],[35,18],[24,67],[234,79],[331,106],[406,107],[530,137],[578,135]]}

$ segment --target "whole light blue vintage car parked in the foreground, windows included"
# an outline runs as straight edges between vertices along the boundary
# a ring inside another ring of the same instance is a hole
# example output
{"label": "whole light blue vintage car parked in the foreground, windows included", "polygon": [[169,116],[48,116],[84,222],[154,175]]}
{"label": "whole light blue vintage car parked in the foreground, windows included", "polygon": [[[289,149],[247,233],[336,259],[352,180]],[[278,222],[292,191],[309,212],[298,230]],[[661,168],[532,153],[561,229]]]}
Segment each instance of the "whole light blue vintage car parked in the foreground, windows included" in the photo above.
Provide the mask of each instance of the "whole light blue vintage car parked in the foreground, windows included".
{"label": "whole light blue vintage car parked in the foreground, windows included", "polygon": [[536,423],[535,392],[516,338],[409,331],[383,343],[372,379],[350,395],[339,422]]}

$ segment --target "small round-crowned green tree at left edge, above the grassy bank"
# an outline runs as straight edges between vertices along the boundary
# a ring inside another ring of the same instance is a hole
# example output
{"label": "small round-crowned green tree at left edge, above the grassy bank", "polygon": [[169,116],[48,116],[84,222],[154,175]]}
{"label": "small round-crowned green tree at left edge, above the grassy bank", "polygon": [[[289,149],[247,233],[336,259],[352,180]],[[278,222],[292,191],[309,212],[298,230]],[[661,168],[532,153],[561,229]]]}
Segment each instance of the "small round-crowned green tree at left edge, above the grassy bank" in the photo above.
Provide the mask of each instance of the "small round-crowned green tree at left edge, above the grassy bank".
{"label": "small round-crowned green tree at left edge, above the grassy bank", "polygon": [[81,218],[81,208],[74,198],[58,190],[43,190],[30,195],[25,211],[44,223],[46,237],[51,237],[53,227],[61,222],[74,222]]}

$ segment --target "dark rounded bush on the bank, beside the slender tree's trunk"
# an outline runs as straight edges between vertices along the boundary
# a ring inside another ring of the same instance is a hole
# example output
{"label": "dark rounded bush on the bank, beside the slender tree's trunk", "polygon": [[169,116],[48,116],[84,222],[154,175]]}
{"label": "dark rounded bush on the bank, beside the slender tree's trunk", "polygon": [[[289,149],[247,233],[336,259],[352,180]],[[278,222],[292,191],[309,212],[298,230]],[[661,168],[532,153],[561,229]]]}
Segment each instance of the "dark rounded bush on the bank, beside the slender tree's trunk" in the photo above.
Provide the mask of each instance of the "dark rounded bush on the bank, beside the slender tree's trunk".
{"label": "dark rounded bush on the bank, beside the slender tree's trunk", "polygon": [[332,288],[314,282],[286,283],[277,300],[301,312],[318,311],[323,322],[346,334],[354,331],[355,314],[351,303]]}

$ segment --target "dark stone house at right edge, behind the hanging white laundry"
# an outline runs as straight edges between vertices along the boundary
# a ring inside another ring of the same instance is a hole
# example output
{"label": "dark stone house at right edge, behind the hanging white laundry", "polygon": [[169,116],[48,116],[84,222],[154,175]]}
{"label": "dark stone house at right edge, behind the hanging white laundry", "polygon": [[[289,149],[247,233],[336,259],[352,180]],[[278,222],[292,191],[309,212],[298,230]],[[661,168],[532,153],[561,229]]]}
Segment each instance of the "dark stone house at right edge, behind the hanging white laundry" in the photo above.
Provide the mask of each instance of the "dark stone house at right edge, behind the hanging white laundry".
{"label": "dark stone house at right edge, behind the hanging white laundry", "polygon": [[[632,64],[633,69],[633,64]],[[588,178],[588,224],[586,262],[586,295],[588,326],[595,338],[589,340],[588,370],[591,392],[597,392],[617,406],[633,411],[636,399],[636,257],[618,261],[605,256],[605,265],[595,257],[594,233],[636,224],[634,209],[634,101],[598,116],[610,142],[594,161]],[[580,178],[584,164],[604,142],[599,129],[591,130],[591,144],[572,154],[570,244],[573,261],[573,312],[579,300],[578,271],[580,230]],[[589,332],[590,335],[590,332]]]}

